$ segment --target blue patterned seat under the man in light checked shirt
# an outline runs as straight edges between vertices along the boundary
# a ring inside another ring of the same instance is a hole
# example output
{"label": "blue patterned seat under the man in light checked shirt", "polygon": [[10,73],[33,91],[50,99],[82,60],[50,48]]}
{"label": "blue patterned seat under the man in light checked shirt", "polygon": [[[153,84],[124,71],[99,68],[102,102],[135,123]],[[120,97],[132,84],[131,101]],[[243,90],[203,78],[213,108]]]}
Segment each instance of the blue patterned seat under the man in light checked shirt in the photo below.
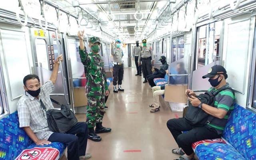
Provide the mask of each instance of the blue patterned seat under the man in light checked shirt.
{"label": "blue patterned seat under the man in light checked shirt", "polygon": [[28,156],[28,152],[38,158],[44,156],[48,157],[48,160],[58,160],[65,148],[66,146],[59,142],[36,145],[19,127],[17,111],[0,120],[0,160],[14,160],[18,156]]}

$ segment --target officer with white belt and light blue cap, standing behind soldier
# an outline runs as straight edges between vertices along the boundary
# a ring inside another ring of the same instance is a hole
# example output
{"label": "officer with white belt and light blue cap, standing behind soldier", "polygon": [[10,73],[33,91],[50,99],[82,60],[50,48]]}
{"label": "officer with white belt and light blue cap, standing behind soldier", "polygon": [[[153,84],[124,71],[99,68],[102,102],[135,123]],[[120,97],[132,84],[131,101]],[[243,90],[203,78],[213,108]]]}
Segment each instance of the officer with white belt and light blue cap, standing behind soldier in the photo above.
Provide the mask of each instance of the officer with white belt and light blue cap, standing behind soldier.
{"label": "officer with white belt and light blue cap, standing behind soldier", "polygon": [[[111,45],[111,55],[114,59],[114,67],[113,67],[113,85],[114,85],[114,93],[117,93],[118,91],[124,91],[122,89],[122,80],[124,77],[124,64],[122,63],[122,57],[124,55],[123,50],[120,48],[120,40],[115,41],[115,46],[112,43]],[[117,85],[118,84],[118,88]]]}

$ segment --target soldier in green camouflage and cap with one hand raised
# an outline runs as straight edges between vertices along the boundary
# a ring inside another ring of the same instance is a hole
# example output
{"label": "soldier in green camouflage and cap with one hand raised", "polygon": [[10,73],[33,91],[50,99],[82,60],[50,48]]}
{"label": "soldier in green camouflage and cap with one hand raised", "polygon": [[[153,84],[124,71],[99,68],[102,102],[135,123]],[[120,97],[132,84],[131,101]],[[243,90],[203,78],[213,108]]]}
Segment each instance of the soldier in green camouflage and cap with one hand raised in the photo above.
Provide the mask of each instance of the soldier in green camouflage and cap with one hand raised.
{"label": "soldier in green camouflage and cap with one hand raised", "polygon": [[[86,96],[87,96],[87,114],[86,122],[88,124],[88,138],[93,141],[100,141],[101,137],[96,133],[110,132],[111,128],[102,126],[102,119],[105,113],[105,95],[109,94],[108,85],[106,81],[106,72],[104,69],[104,62],[99,55],[100,52],[100,38],[91,37],[89,39],[89,47],[92,50],[90,53],[86,52],[84,46],[84,31],[78,32],[80,40],[80,59],[84,65],[86,74]],[[94,126],[96,125],[95,131]]]}

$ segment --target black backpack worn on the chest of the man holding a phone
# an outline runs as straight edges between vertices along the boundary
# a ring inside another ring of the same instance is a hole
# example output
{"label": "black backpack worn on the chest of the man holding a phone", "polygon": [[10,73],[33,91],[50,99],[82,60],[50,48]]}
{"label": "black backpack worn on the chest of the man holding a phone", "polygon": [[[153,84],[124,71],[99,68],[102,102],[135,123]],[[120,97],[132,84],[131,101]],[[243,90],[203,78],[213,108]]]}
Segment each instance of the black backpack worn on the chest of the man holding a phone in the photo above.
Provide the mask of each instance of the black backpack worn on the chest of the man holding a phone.
{"label": "black backpack worn on the chest of the man holding a phone", "polygon": [[[196,96],[202,103],[207,104],[209,106],[214,107],[215,96],[223,90],[230,90],[234,94],[234,90],[231,87],[224,87],[219,89],[216,92],[205,92]],[[235,94],[234,94],[235,95]],[[202,109],[198,107],[192,106],[190,103],[188,109],[186,110],[185,119],[188,123],[203,126],[205,124],[210,123],[215,117],[209,115],[208,113],[204,112]]]}

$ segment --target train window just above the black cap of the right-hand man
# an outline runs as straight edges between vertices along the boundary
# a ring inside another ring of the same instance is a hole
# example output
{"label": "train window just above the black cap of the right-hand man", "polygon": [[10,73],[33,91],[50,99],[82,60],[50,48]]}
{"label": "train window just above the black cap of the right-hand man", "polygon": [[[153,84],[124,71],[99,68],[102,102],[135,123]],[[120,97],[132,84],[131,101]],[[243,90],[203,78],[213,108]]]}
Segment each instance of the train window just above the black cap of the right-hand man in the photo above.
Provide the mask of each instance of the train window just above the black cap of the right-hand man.
{"label": "train window just above the black cap of the right-hand man", "polygon": [[222,22],[215,22],[197,29],[196,69],[220,60],[219,42]]}

